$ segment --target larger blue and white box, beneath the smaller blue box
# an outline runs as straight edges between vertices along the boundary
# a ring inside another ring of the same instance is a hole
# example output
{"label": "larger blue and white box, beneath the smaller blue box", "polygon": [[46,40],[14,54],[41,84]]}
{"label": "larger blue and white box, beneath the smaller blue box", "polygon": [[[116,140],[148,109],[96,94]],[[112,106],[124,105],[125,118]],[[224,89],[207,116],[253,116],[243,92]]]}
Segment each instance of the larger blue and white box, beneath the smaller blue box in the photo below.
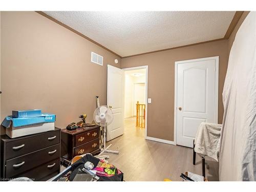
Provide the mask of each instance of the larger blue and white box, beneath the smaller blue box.
{"label": "larger blue and white box, beneath the smaller blue box", "polygon": [[12,116],[7,116],[2,125],[6,127],[6,135],[10,138],[22,137],[53,131],[55,128],[55,115],[42,114],[40,117],[29,118],[12,118]]}

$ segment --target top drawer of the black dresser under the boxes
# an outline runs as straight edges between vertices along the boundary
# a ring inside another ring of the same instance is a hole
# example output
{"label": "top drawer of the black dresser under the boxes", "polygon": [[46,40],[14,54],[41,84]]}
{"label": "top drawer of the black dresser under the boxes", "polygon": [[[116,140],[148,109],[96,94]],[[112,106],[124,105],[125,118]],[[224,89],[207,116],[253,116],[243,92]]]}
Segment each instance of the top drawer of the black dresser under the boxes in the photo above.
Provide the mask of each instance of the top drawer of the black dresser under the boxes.
{"label": "top drawer of the black dresser under the boxes", "polygon": [[60,131],[57,130],[6,142],[6,152],[8,152],[6,160],[58,144],[60,143],[59,135]]}

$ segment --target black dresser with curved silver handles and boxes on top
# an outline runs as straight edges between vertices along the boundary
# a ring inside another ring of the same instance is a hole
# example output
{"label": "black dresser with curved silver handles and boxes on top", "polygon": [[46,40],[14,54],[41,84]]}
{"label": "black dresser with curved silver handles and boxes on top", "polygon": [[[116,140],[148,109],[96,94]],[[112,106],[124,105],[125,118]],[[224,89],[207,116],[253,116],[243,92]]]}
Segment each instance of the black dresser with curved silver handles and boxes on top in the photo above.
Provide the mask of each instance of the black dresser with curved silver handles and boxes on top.
{"label": "black dresser with curved silver handles and boxes on top", "polygon": [[60,129],[14,139],[1,136],[1,178],[46,181],[59,172]]}

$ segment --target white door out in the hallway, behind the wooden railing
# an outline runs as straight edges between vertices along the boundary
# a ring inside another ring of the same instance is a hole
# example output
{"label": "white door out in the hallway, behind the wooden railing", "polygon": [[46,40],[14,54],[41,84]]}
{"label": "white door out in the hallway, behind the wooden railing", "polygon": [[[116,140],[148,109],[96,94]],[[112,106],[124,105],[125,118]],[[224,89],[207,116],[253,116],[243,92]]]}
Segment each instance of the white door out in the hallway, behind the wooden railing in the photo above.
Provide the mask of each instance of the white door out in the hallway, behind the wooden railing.
{"label": "white door out in the hallway, behind the wooden railing", "polygon": [[136,104],[145,104],[145,83],[134,83],[133,115],[136,116]]}

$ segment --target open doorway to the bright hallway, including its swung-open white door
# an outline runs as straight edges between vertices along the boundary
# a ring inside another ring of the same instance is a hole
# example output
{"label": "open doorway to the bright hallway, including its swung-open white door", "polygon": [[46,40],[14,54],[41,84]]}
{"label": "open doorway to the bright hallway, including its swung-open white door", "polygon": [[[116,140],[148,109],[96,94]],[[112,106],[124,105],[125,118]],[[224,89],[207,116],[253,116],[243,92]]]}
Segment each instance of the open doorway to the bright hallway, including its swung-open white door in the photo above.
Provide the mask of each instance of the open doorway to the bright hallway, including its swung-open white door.
{"label": "open doorway to the bright hallway, including its swung-open white door", "polygon": [[[140,137],[146,138],[146,101],[147,66],[119,69],[108,65],[107,105],[112,108],[114,120],[106,127],[106,141],[110,141],[123,135],[125,131],[129,131],[124,130],[125,122],[129,124],[126,126],[126,129],[133,129],[132,131],[135,134],[137,134],[137,130],[140,130]],[[138,106],[140,106],[141,112],[139,115],[137,115]],[[136,126],[137,116],[140,117],[139,126]],[[143,123],[141,124],[141,122]],[[141,125],[143,127],[140,127]]]}

